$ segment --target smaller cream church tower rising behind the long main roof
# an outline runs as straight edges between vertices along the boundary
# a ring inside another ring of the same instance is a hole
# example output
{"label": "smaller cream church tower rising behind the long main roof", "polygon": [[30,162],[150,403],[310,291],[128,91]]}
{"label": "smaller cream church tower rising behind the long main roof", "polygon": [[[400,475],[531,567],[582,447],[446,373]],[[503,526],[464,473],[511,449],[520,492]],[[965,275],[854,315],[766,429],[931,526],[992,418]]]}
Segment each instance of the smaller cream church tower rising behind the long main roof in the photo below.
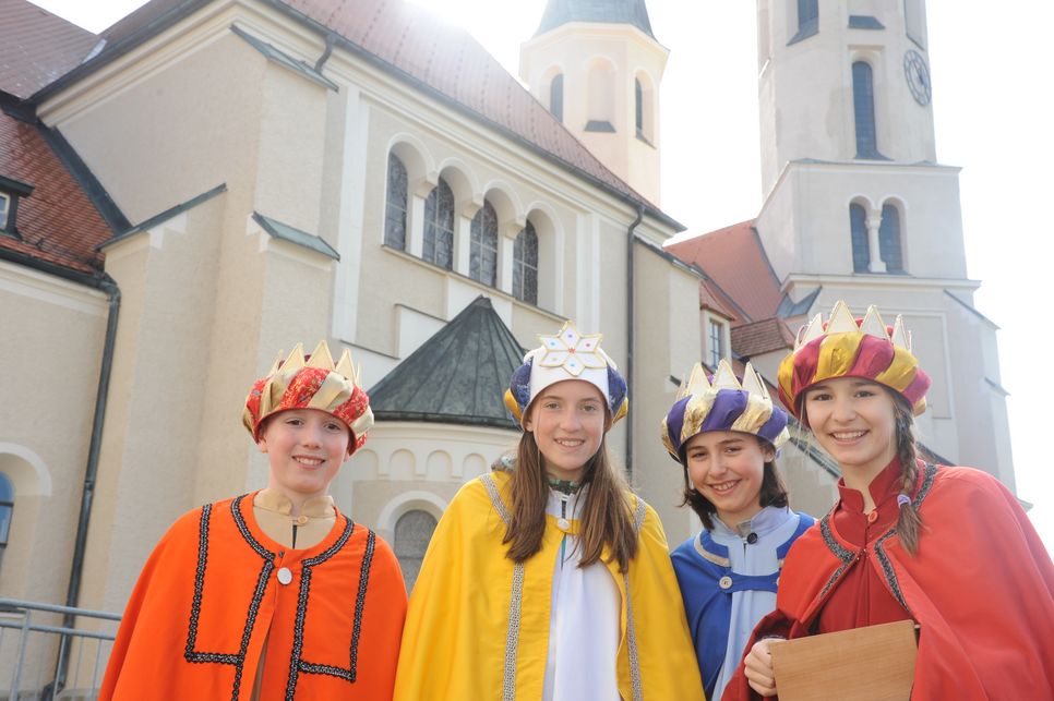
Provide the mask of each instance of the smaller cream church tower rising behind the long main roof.
{"label": "smaller cream church tower rising behind the long main roof", "polygon": [[519,76],[612,172],[659,204],[659,83],[669,51],[645,0],[549,0]]}

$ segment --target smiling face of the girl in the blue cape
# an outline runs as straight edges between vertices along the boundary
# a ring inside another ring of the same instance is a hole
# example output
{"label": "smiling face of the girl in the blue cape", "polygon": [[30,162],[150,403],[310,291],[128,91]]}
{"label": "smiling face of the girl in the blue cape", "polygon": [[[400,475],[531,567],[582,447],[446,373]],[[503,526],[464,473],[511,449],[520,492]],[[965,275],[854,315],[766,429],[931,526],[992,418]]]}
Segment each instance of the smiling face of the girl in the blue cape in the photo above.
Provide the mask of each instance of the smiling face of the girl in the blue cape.
{"label": "smiling face of the girl in the blue cape", "polygon": [[685,444],[684,457],[692,485],[726,525],[735,528],[762,510],[765,463],[776,458],[767,442],[738,431],[707,431]]}

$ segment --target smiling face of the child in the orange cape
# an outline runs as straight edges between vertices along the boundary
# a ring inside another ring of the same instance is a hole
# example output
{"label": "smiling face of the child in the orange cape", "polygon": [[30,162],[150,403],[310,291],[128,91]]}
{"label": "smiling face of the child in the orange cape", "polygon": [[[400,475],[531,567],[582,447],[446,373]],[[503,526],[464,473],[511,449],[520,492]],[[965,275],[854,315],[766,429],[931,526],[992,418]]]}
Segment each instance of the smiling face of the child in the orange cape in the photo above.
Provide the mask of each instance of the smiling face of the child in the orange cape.
{"label": "smiling face of the child in the orange cape", "polygon": [[348,459],[347,424],[318,409],[290,409],[267,419],[257,446],[271,461],[267,486],[294,504],[323,496]]}

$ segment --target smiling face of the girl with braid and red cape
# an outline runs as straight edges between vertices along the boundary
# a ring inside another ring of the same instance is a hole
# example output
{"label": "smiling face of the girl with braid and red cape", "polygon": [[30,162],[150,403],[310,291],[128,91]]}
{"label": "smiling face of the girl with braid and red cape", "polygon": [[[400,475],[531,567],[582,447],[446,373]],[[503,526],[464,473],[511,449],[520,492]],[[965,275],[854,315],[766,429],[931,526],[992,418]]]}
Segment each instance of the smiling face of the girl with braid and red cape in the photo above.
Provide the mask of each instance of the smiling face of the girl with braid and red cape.
{"label": "smiling face of the girl with braid and red cape", "polygon": [[802,412],[846,484],[864,488],[897,455],[893,396],[859,377],[828,379],[805,392]]}

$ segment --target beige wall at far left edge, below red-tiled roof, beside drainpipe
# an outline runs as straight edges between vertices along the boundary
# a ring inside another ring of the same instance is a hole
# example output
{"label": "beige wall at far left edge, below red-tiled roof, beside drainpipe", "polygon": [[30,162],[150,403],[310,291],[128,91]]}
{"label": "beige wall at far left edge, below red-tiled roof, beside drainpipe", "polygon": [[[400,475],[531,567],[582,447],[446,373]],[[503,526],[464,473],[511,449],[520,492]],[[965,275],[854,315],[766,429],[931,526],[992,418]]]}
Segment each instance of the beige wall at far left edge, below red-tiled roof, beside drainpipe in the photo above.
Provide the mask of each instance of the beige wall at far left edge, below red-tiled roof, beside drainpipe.
{"label": "beige wall at far left edge, below red-tiled roof, beside drainpipe", "polygon": [[91,288],[0,262],[0,472],[14,511],[0,592],[65,602],[108,314]]}

